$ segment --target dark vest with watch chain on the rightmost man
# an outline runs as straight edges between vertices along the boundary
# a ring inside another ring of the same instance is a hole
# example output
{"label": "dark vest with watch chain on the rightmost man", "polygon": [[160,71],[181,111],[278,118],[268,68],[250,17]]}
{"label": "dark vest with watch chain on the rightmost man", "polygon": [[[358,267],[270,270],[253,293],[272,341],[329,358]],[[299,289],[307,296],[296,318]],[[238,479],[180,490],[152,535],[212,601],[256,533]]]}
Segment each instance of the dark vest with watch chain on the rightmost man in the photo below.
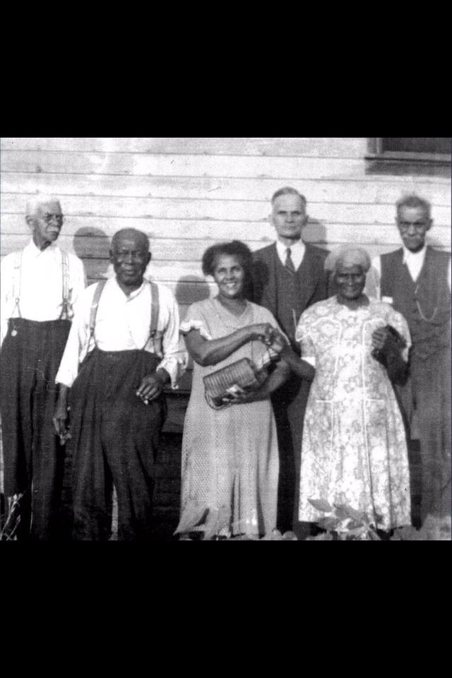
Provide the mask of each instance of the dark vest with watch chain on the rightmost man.
{"label": "dark vest with watch chain on the rightmost man", "polygon": [[427,246],[424,265],[414,282],[403,263],[403,249],[381,255],[381,297],[405,316],[412,338],[412,356],[425,360],[450,346],[451,292],[447,274],[450,255]]}

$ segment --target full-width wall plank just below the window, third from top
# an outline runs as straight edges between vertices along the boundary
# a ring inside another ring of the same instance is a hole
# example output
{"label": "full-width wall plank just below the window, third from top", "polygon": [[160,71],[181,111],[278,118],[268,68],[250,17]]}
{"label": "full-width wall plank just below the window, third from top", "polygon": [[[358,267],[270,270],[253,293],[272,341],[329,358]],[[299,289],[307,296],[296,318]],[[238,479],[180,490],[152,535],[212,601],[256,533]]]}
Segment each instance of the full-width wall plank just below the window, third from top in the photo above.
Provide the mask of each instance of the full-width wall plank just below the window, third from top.
{"label": "full-width wall plank just below the window, third from top", "polygon": [[[225,200],[252,200],[268,203],[281,188],[279,179],[235,179],[215,177],[132,177],[109,174],[44,174],[3,172],[1,190],[4,193],[49,193],[56,196],[117,196],[138,198],[224,198]],[[303,179],[295,186],[304,193],[309,208],[315,203],[377,203],[393,206],[402,194],[417,192],[434,205],[450,206],[451,190],[448,184],[400,181],[397,184],[369,181],[363,178],[343,181]]]}

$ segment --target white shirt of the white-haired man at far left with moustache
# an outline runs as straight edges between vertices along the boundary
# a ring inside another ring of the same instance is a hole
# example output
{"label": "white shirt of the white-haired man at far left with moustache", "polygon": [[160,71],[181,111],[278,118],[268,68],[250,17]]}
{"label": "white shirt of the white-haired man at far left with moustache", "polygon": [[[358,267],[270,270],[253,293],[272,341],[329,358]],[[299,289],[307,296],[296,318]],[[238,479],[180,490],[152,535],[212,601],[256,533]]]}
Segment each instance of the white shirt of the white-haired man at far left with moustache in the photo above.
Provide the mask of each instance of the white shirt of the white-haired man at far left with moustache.
{"label": "white shirt of the white-haired man at far left with moustache", "polygon": [[[69,275],[67,289],[74,307],[85,289],[83,263],[74,254],[67,253]],[[62,255],[57,244],[52,243],[40,250],[31,241],[22,250],[20,274],[15,269],[16,252],[8,254],[0,267],[0,326],[1,342],[8,331],[8,318],[22,317],[27,320],[57,320],[63,300]],[[20,286],[20,294],[19,294]],[[19,295],[19,309],[16,307]]]}

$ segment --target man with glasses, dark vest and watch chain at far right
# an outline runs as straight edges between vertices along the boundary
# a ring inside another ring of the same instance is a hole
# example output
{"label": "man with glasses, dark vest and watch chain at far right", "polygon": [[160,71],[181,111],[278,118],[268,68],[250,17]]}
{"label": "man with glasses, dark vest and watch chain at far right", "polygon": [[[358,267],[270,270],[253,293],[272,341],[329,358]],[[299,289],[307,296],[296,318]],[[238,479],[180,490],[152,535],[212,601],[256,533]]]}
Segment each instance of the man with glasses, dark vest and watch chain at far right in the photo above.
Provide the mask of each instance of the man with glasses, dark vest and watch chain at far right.
{"label": "man with glasses, dark vest and watch chain at far right", "polygon": [[420,522],[451,516],[451,255],[425,242],[430,203],[416,195],[396,203],[403,246],[372,261],[367,292],[408,321],[409,376],[396,387],[412,440],[420,441]]}

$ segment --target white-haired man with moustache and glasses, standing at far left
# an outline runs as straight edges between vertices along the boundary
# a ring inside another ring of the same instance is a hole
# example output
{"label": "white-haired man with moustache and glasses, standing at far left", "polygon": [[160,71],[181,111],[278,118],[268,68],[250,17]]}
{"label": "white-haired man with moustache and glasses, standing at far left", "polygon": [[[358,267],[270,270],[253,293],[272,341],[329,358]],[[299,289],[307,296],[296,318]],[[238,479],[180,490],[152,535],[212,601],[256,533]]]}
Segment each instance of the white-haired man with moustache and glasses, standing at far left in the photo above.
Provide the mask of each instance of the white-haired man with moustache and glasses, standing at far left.
{"label": "white-haired man with moustache and glasses, standing at far left", "polygon": [[52,426],[54,381],[73,304],[85,287],[83,263],[55,244],[63,220],[54,198],[28,203],[32,240],[1,264],[0,402],[9,504],[2,539],[59,537],[64,447]]}

